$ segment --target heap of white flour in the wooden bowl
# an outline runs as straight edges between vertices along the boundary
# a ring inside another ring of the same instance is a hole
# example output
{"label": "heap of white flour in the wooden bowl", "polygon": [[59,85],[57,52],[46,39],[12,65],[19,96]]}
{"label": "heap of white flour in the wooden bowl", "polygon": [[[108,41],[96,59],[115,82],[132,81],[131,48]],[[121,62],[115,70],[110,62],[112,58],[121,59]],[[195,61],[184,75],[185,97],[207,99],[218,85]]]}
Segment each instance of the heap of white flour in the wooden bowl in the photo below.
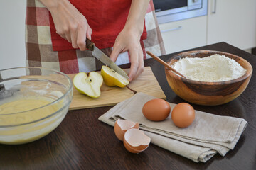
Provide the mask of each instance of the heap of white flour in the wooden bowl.
{"label": "heap of white flour in the wooden bowl", "polygon": [[203,58],[185,57],[172,65],[174,69],[197,81],[228,81],[245,74],[246,69],[225,55],[211,55]]}

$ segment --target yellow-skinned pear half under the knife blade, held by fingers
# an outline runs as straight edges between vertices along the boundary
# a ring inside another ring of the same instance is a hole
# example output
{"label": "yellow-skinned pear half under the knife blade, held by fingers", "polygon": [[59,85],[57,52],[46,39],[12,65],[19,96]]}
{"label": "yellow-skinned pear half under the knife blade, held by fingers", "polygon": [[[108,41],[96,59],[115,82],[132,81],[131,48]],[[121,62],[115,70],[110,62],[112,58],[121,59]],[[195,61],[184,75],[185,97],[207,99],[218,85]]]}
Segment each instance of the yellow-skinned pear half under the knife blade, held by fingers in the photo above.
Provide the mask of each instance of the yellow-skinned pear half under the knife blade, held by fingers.
{"label": "yellow-skinned pear half under the knife blade, held by fingers", "polygon": [[102,66],[101,74],[107,86],[125,87],[129,84],[129,80],[127,78],[118,74],[110,67]]}

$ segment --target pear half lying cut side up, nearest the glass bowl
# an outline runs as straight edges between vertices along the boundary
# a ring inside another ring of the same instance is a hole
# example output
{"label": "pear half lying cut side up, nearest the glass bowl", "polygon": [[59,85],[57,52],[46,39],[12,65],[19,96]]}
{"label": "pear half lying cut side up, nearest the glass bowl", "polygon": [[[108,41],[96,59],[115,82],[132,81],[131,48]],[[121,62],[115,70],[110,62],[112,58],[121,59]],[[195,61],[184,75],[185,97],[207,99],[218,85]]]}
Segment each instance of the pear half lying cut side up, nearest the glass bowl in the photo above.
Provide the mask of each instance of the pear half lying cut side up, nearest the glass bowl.
{"label": "pear half lying cut side up, nearest the glass bowl", "polygon": [[75,75],[73,84],[81,94],[86,94],[92,98],[100,96],[100,87],[102,86],[102,76],[97,72],[80,72]]}

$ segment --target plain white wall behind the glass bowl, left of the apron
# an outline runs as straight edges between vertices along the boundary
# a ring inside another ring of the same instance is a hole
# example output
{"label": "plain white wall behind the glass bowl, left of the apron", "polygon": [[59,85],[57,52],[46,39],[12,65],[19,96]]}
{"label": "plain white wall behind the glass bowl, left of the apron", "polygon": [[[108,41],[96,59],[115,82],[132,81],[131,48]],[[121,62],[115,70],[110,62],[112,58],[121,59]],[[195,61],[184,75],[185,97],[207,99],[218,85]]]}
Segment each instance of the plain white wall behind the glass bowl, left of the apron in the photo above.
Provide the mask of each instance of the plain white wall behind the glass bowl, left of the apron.
{"label": "plain white wall behind the glass bowl, left of the apron", "polygon": [[0,0],[0,70],[23,67],[26,0]]}

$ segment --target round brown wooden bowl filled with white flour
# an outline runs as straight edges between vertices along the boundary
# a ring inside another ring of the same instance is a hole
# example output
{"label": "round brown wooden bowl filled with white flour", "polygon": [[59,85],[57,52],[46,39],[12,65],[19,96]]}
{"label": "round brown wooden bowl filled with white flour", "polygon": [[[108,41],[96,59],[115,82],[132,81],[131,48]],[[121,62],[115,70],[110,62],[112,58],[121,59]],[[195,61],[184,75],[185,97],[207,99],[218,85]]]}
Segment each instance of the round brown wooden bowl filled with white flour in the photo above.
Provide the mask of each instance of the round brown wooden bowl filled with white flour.
{"label": "round brown wooden bowl filled with white flour", "polygon": [[168,63],[173,65],[183,57],[207,57],[214,54],[233,58],[245,68],[247,72],[242,77],[230,81],[206,82],[180,77],[170,69],[165,68],[166,79],[174,93],[188,102],[205,106],[216,106],[228,103],[240,96],[252,77],[252,66],[249,62],[242,59],[242,57],[227,52],[200,50],[182,52],[178,55],[174,55],[169,59]]}

